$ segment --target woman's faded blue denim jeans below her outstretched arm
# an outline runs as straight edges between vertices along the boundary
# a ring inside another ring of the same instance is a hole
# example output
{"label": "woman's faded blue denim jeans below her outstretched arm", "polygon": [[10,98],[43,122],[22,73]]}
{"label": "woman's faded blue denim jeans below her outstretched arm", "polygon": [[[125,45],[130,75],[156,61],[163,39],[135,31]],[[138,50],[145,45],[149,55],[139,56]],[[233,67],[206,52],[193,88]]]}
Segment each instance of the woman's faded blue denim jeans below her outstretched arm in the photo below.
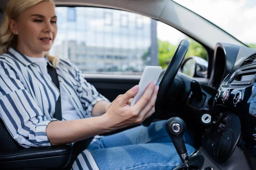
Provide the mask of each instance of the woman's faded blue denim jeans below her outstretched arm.
{"label": "woman's faded blue denim jeans below her outstretched arm", "polygon": [[[149,127],[138,126],[103,136],[87,150],[100,170],[172,170],[181,160],[165,124],[166,120],[158,121]],[[192,153],[195,149],[189,133],[184,133],[184,141],[188,154]]]}

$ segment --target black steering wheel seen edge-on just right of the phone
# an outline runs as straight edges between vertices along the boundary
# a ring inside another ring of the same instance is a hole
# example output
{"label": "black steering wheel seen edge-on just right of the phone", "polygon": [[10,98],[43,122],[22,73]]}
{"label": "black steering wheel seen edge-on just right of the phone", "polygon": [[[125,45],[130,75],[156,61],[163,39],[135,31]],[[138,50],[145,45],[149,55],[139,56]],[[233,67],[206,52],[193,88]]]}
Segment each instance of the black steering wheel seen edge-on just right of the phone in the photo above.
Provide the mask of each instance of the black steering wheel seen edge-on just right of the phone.
{"label": "black steering wheel seen edge-on just right of the phone", "polygon": [[189,41],[182,40],[175,51],[175,54],[172,57],[172,60],[169,62],[169,65],[163,74],[163,76],[160,76],[157,85],[159,85],[159,90],[157,94],[157,100],[155,102],[155,113],[145,119],[141,125],[148,127],[151,122],[153,121],[154,117],[157,116],[156,113],[160,109],[160,104],[163,100],[163,96],[166,93],[166,91],[169,89],[169,87],[172,85],[172,82],[180,68],[180,65],[186,55],[186,52],[189,49]]}

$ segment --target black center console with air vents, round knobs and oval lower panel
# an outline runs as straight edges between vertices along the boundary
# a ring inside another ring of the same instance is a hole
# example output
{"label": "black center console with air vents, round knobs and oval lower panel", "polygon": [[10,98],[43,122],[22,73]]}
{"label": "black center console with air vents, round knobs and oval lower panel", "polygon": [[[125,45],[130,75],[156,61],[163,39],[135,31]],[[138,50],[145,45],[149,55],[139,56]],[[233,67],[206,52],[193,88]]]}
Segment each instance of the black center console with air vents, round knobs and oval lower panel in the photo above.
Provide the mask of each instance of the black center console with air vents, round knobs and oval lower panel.
{"label": "black center console with air vents, round knobs and oval lower panel", "polygon": [[218,88],[212,120],[202,146],[175,170],[251,170],[244,152],[256,146],[256,64],[244,65],[227,75]]}

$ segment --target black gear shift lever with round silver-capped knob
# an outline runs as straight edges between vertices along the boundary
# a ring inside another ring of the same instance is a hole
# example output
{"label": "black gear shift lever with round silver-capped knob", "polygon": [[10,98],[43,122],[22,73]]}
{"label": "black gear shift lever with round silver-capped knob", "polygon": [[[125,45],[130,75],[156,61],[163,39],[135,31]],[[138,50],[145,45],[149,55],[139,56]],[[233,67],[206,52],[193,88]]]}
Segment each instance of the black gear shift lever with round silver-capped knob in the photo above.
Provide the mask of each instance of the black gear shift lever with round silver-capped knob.
{"label": "black gear shift lever with round silver-capped knob", "polygon": [[185,122],[179,117],[172,117],[166,122],[166,131],[172,139],[180,159],[186,164],[186,167],[188,167],[187,163],[189,162],[189,156],[183,140],[183,134],[186,131]]}

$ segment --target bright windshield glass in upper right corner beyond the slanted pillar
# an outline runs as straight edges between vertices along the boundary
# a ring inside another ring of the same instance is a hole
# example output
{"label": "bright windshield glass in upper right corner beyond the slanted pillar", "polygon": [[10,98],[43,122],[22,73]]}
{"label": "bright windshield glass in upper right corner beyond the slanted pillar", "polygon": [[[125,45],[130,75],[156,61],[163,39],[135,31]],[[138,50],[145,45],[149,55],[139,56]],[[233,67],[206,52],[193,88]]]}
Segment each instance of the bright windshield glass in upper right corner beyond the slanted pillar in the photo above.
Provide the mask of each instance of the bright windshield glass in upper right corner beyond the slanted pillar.
{"label": "bright windshield glass in upper right corner beyond the slanted pillar", "polygon": [[256,48],[256,0],[173,0]]}

